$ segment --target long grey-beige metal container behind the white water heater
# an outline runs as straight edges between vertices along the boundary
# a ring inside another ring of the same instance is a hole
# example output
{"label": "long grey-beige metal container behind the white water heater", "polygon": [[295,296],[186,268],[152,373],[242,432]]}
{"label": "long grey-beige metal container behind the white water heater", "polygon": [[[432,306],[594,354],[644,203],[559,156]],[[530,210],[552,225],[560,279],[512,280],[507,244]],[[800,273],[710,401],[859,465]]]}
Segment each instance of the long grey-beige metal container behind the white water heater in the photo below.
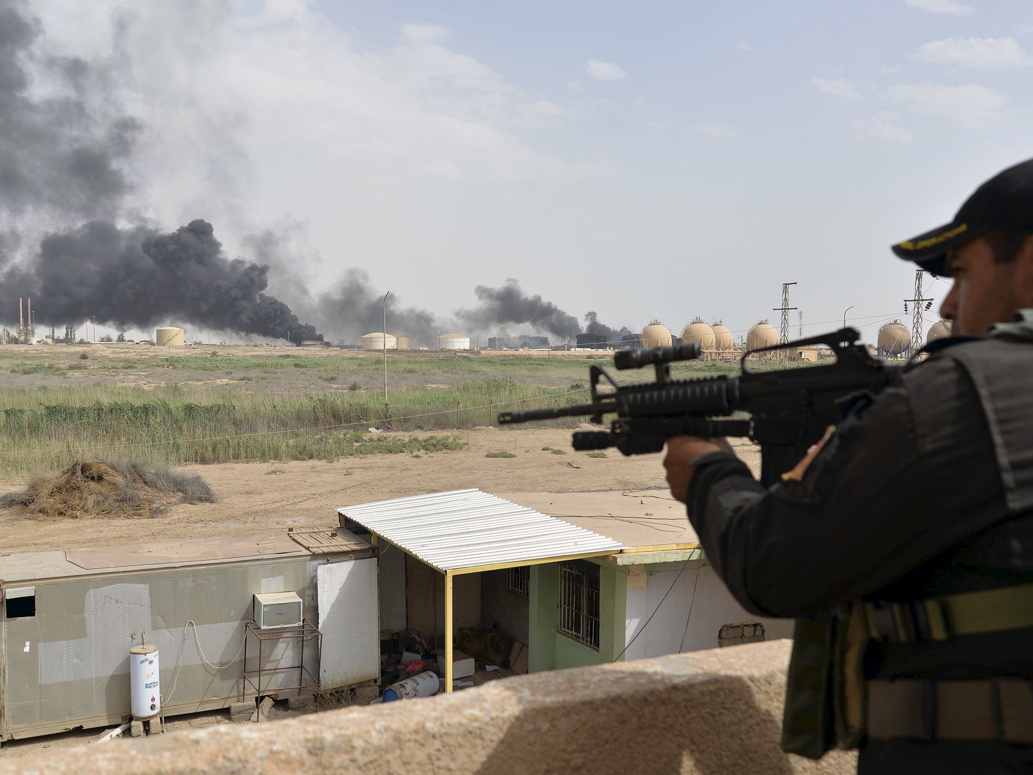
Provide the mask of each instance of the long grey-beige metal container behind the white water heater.
{"label": "long grey-beige metal container behind the white water heater", "polygon": [[[0,742],[128,720],[143,643],[166,716],[253,698],[256,677],[263,695],[378,681],[376,562],[343,528],[0,557]],[[285,591],[311,627],[264,640],[259,663],[253,595]]]}

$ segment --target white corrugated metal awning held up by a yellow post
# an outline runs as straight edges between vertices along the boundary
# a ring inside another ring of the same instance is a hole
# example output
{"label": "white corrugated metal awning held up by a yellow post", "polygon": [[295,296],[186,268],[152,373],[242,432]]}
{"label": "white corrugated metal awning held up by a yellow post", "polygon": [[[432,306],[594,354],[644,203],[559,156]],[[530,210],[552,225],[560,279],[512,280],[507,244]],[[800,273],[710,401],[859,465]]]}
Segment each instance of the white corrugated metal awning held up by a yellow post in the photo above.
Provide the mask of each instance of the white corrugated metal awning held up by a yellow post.
{"label": "white corrugated metal awning held up by a yellow post", "polygon": [[476,489],[337,510],[441,571],[593,557],[625,548],[605,535]]}

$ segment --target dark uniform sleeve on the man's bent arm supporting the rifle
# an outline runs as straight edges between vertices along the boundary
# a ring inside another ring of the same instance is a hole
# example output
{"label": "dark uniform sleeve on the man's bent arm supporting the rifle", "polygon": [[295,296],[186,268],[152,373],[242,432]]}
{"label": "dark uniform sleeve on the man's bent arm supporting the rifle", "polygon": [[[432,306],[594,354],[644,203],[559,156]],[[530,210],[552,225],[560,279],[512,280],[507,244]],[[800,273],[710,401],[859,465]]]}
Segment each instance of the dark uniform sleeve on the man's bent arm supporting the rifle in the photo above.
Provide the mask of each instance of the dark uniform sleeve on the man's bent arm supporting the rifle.
{"label": "dark uniform sleeve on the man's bent arm supporting the rifle", "polygon": [[761,615],[873,595],[1002,516],[985,416],[948,358],[848,415],[801,482],[764,489],[730,453],[695,463],[689,519],[731,593]]}

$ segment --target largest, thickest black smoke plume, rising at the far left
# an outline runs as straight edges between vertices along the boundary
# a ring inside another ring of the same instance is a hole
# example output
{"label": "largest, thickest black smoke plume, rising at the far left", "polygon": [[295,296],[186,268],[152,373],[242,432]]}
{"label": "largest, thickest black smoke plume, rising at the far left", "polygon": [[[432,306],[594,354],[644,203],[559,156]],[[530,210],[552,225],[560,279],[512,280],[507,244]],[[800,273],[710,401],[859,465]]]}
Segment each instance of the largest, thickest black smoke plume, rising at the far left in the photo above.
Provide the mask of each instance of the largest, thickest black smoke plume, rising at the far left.
{"label": "largest, thickest black smoke plume, rising at the far left", "polygon": [[[43,31],[24,7],[0,5],[3,314],[31,297],[35,320],[53,326],[93,316],[122,328],[189,322],[321,338],[263,292],[269,267],[228,257],[210,223],[194,220],[171,234],[117,225],[132,192],[127,167],[143,124],[116,99],[114,60],[36,56]],[[32,95],[32,68],[48,74],[59,96]],[[15,260],[30,230],[43,235],[39,249]]]}

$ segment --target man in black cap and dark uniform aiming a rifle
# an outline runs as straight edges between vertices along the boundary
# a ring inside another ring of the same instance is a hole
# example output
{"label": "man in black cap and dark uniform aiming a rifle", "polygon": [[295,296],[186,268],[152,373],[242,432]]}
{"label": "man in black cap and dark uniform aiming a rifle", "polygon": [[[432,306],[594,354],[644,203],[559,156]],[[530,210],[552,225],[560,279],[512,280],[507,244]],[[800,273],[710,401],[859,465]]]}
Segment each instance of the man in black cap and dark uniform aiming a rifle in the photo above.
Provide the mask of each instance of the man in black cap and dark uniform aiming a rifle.
{"label": "man in black cap and dark uniform aiming a rifle", "polygon": [[952,336],[855,401],[799,481],[764,489],[683,436],[667,482],[737,599],[797,617],[786,750],[1033,772],[1033,160],[893,249],[953,279]]}

